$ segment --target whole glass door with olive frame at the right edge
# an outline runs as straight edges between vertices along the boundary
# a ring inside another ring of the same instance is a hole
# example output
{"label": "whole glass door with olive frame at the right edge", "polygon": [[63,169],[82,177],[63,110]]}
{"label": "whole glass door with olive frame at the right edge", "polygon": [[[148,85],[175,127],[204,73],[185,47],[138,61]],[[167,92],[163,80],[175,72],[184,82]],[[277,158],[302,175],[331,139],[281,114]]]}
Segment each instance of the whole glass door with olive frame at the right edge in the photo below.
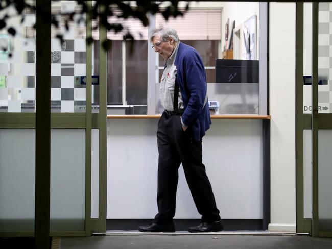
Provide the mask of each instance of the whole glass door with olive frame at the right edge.
{"label": "whole glass door with olive frame at the right edge", "polygon": [[[331,3],[297,3],[297,232],[332,236]],[[305,29],[303,29],[305,27]],[[302,55],[300,55],[300,53]]]}

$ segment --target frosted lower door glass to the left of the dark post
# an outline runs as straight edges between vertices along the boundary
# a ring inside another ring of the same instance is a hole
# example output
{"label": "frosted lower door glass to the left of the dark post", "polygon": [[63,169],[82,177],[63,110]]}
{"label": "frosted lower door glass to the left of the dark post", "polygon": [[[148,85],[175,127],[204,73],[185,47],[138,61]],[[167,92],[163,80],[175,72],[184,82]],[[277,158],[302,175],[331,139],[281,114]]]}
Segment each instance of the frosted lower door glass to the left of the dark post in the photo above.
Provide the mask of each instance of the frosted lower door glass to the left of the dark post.
{"label": "frosted lower door glass to the left of the dark post", "polygon": [[0,231],[34,230],[34,129],[0,129],[0,172]]}

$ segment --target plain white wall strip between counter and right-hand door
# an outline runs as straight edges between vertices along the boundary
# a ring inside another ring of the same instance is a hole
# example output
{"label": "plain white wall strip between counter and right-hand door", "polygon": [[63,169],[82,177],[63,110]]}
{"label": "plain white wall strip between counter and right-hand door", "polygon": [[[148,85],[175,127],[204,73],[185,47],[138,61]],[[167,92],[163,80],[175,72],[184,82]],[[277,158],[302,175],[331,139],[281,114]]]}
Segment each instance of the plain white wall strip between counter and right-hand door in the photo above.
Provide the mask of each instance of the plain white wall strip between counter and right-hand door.
{"label": "plain white wall strip between counter and right-hand door", "polygon": [[269,30],[272,116],[269,230],[295,231],[295,3],[270,3]]}

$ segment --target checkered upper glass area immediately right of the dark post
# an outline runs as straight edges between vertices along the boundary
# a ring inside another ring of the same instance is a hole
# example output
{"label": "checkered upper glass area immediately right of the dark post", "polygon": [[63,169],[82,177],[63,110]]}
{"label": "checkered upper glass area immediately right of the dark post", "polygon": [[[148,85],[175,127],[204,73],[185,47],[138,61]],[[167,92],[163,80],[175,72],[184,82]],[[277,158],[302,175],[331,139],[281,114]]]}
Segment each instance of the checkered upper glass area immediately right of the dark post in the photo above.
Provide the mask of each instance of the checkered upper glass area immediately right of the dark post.
{"label": "checkered upper glass area immediately right of the dark post", "polygon": [[80,12],[75,1],[52,1],[52,14],[60,27],[51,29],[52,112],[85,112],[86,28],[85,14]]}

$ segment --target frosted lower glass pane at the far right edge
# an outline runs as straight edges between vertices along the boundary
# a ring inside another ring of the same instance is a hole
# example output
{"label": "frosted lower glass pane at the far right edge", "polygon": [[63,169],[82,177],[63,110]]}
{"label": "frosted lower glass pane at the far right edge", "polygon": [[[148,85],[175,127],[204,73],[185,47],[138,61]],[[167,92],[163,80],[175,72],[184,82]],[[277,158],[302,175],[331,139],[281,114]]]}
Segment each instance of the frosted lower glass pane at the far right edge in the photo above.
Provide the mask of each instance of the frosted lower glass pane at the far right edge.
{"label": "frosted lower glass pane at the far right edge", "polygon": [[332,231],[332,130],[318,130],[319,231]]}

